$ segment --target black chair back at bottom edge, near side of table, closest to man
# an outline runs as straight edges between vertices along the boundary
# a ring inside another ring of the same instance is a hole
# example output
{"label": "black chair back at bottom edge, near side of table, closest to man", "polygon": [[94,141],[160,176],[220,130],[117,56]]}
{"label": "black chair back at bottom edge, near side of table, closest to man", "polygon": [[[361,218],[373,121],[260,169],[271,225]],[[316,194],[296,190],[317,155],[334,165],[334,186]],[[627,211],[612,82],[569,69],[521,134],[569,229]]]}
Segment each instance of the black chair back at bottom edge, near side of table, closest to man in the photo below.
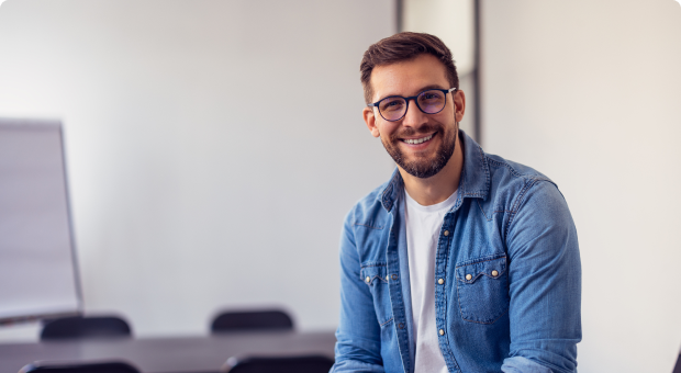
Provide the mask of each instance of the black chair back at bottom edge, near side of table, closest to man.
{"label": "black chair back at bottom edge, near side of table, closest to man", "polygon": [[328,373],[334,361],[327,357],[231,358],[222,371],[228,373]]}

